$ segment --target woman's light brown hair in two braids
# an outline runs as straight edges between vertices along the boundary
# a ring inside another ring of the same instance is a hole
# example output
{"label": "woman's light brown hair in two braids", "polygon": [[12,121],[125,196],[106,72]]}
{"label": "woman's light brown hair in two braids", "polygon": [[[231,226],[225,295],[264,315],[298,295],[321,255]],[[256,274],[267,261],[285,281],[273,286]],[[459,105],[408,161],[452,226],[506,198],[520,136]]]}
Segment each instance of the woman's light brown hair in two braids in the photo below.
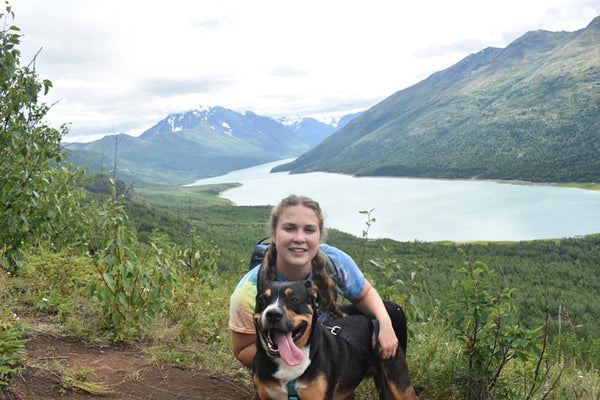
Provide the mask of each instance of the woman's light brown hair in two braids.
{"label": "woman's light brown hair in two braids", "polygon": [[[325,237],[323,211],[319,203],[311,198],[292,194],[279,202],[271,212],[271,233],[277,230],[279,218],[281,214],[288,208],[294,206],[304,206],[315,212],[319,220],[319,233],[321,240]],[[277,248],[274,243],[271,243],[265,256],[264,270],[265,280],[277,279]],[[341,317],[343,314],[337,306],[336,284],[328,273],[327,260],[321,251],[312,260],[313,281],[317,285],[319,292],[319,307],[333,318]]]}

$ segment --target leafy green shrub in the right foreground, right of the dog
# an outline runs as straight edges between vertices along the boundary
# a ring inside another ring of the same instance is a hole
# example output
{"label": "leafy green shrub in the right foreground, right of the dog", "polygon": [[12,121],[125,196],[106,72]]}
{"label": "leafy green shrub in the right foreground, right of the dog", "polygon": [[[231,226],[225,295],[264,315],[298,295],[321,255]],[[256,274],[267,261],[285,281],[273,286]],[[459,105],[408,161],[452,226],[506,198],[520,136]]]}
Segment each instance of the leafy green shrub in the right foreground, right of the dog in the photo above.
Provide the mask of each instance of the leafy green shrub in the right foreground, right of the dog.
{"label": "leafy green shrub in the right foreground, right of the dog", "polygon": [[544,331],[511,325],[514,290],[495,293],[490,282],[497,276],[479,261],[467,259],[458,272],[446,310],[467,362],[466,398],[533,399],[542,391],[545,397],[564,369],[547,358],[548,313]]}

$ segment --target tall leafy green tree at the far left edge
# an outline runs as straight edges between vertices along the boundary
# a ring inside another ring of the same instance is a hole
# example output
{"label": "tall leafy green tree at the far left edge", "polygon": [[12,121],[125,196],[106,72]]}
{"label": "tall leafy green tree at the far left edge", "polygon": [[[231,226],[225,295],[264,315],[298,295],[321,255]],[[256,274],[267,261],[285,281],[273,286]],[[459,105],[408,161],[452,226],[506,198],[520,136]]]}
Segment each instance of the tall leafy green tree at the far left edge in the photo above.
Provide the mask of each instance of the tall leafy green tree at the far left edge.
{"label": "tall leafy green tree at the far left edge", "polygon": [[49,107],[39,97],[52,83],[38,81],[35,58],[21,66],[19,28],[9,25],[14,13],[5,5],[0,14],[0,261],[2,268],[13,269],[24,244],[60,233],[68,225],[65,218],[79,212],[83,172],[63,162],[60,140],[67,128],[44,123]]}

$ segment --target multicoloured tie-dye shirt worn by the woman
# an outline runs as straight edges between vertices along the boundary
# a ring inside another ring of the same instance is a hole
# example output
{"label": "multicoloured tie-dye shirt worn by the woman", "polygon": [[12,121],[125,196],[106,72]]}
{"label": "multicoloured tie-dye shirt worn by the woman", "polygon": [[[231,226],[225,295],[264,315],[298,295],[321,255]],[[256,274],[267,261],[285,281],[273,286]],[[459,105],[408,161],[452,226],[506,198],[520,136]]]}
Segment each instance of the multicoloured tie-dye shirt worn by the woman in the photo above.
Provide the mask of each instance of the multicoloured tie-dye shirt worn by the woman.
{"label": "multicoloured tie-dye shirt worn by the woman", "polygon": [[[354,260],[346,253],[327,244],[321,250],[333,261],[338,275],[338,286],[345,298],[353,301],[365,287],[365,277]],[[229,328],[235,332],[255,334],[254,306],[259,266],[254,267],[240,280],[231,295],[229,306]],[[308,279],[312,278],[312,273]],[[277,280],[286,279],[277,273]]]}

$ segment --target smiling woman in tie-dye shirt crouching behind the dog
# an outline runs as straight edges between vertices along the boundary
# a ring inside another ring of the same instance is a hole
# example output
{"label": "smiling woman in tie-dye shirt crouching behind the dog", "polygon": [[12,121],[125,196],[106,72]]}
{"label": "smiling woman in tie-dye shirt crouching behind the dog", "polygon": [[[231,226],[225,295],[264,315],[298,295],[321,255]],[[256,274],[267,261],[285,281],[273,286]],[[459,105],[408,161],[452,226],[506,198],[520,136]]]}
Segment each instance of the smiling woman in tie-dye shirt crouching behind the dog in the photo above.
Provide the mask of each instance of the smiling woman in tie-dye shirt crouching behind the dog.
{"label": "smiling woman in tie-dye shirt crouching behind the dog", "polygon": [[[382,358],[394,357],[398,338],[381,297],[350,256],[335,247],[321,244],[323,225],[323,213],[316,201],[296,195],[283,199],[271,214],[271,245],[262,266],[265,279],[312,280],[319,290],[321,310],[333,318],[341,316],[335,303],[336,284],[327,273],[321,249],[338,270],[338,287],[344,297],[363,314],[379,321],[378,340]],[[249,271],[231,295],[229,327],[232,330],[233,353],[247,367],[252,366],[256,354],[253,316],[259,267]]]}

